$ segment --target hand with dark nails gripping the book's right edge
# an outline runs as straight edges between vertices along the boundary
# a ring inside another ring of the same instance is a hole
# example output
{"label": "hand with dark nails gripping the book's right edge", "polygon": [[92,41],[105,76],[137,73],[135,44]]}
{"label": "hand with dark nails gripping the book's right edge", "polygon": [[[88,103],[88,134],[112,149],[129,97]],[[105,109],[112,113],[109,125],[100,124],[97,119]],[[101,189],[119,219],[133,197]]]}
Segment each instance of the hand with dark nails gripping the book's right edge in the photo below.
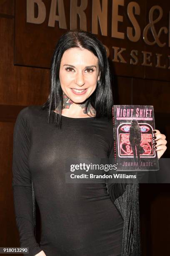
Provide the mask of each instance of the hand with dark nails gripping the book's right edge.
{"label": "hand with dark nails gripping the book's right edge", "polygon": [[167,149],[167,146],[165,146],[167,143],[167,141],[165,140],[166,136],[160,133],[159,130],[154,131],[156,131],[156,133],[154,133],[154,136],[156,136],[156,138],[154,139],[153,143],[156,143],[154,147],[157,147],[155,151],[157,151],[158,159],[160,159],[160,157],[164,154],[165,150]]}

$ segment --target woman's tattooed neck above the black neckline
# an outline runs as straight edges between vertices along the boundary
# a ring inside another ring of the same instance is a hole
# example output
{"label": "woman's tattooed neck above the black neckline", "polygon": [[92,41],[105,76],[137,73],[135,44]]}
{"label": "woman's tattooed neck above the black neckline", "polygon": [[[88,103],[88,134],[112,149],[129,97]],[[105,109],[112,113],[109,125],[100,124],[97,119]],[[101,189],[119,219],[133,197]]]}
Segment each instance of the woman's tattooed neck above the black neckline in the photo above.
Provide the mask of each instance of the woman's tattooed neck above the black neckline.
{"label": "woman's tattooed neck above the black neckline", "polygon": [[[89,103],[86,110],[86,102],[74,103],[70,100],[63,92],[63,105],[62,105],[62,115],[72,118],[90,118],[94,117],[96,114],[95,109]],[[55,111],[57,112],[57,111]]]}

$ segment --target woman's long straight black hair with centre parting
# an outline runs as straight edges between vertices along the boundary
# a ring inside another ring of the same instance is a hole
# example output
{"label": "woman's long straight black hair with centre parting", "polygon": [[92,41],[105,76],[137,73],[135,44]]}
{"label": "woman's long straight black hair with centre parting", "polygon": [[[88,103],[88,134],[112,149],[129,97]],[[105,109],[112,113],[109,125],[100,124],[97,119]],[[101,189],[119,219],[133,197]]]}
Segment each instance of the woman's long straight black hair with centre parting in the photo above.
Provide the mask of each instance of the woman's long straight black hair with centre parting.
{"label": "woman's long straight black hair with centre parting", "polygon": [[50,114],[52,110],[58,111],[55,114],[55,123],[61,129],[61,112],[62,112],[62,89],[60,86],[59,71],[62,55],[67,49],[78,47],[91,51],[98,58],[100,80],[97,81],[95,91],[86,101],[86,110],[89,104],[96,111],[95,118],[101,116],[112,116],[112,88],[110,68],[107,60],[105,46],[92,33],[83,30],[70,30],[64,33],[57,45],[51,62],[51,87],[47,101],[42,105],[42,109],[48,108],[48,123],[50,122]]}

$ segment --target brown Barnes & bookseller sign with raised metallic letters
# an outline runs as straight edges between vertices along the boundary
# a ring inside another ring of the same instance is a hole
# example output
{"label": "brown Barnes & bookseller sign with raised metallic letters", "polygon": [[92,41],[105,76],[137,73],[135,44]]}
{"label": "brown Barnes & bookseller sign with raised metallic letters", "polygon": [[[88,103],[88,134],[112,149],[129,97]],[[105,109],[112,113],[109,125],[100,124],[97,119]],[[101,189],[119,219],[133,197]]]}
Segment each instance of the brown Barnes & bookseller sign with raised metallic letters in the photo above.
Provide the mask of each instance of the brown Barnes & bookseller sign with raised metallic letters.
{"label": "brown Barnes & bookseller sign with raised metallic letters", "polygon": [[[152,0],[136,2],[129,0],[22,1],[25,2],[26,8],[23,26],[25,23],[29,29],[29,26],[32,28],[34,26],[33,34],[36,28],[40,34],[45,29],[47,38],[43,41],[48,46],[51,45],[54,48],[62,33],[80,28],[92,32],[102,41],[107,49],[107,57],[117,67],[116,74],[123,75],[120,64],[126,64],[129,67],[165,69],[164,78],[165,74],[166,77],[167,74],[169,75],[170,13],[165,4],[161,6],[163,1],[157,0],[159,5],[155,5]],[[21,1],[16,0],[16,7],[20,8],[17,3]],[[148,8],[145,9],[147,4]],[[18,20],[17,16],[15,18]],[[48,34],[54,36],[48,37]],[[52,38],[53,41],[51,41]],[[37,38],[32,38],[32,47],[34,41],[37,41]],[[39,47],[41,47],[41,42],[39,42]],[[49,64],[45,66],[50,67]],[[141,69],[141,71],[143,73],[146,69]],[[129,75],[132,76],[132,74]],[[143,75],[135,76],[143,77]]]}

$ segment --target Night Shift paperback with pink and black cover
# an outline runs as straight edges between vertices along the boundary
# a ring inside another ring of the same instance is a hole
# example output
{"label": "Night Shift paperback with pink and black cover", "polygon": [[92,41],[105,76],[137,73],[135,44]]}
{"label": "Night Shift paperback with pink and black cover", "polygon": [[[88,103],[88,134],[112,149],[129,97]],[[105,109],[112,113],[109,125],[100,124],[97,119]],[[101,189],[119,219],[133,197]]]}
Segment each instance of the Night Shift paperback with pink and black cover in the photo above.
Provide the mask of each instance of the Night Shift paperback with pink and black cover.
{"label": "Night Shift paperback with pink and black cover", "polygon": [[153,106],[114,105],[112,121],[117,171],[159,170]]}

